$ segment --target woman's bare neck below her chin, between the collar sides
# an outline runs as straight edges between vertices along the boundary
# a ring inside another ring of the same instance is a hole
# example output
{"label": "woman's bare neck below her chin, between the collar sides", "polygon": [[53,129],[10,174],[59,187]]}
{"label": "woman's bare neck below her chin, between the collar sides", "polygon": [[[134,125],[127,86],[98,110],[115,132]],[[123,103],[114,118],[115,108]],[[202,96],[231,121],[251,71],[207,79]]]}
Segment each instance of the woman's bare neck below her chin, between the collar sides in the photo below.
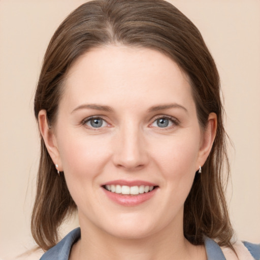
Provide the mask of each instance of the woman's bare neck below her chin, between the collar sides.
{"label": "woman's bare neck below her chin, between the collar sides", "polygon": [[207,259],[207,256],[204,246],[193,246],[184,238],[182,225],[167,226],[145,238],[127,239],[81,224],[81,239],[70,257],[74,259]]}

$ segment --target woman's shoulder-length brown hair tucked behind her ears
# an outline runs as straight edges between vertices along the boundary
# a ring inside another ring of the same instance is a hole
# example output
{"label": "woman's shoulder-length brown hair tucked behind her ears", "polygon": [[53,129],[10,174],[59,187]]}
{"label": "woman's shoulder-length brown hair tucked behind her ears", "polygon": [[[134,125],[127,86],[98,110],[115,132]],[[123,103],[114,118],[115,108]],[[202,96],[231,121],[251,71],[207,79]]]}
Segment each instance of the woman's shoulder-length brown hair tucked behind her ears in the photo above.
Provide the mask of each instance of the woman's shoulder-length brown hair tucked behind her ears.
{"label": "woman's shoulder-length brown hair tucked behind her ears", "polygon": [[[151,48],[171,57],[192,87],[201,128],[211,112],[217,115],[216,138],[203,173],[196,174],[184,205],[184,236],[203,244],[203,236],[231,246],[233,230],[224,196],[223,167],[229,173],[226,134],[214,60],[197,27],[163,0],[96,0],[72,12],[55,31],[47,48],[35,95],[35,116],[45,109],[52,127],[62,83],[75,60],[93,47],[123,44]],[[31,231],[44,250],[58,241],[61,222],[76,210],[64,179],[41,140],[37,196]]]}

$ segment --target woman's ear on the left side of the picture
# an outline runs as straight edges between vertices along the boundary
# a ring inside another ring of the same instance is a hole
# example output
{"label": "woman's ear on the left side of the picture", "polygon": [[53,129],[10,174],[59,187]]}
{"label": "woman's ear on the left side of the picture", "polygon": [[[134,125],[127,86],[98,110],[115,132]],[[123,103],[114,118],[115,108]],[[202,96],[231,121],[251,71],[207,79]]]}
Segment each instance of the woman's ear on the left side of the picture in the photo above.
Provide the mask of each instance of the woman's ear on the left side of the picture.
{"label": "woman's ear on the left side of the picture", "polygon": [[45,146],[52,158],[53,164],[58,165],[57,170],[62,172],[63,170],[62,170],[59,150],[57,146],[57,140],[52,129],[48,124],[46,110],[41,110],[39,112],[38,121],[39,121],[39,128],[40,128],[41,135],[43,137]]}

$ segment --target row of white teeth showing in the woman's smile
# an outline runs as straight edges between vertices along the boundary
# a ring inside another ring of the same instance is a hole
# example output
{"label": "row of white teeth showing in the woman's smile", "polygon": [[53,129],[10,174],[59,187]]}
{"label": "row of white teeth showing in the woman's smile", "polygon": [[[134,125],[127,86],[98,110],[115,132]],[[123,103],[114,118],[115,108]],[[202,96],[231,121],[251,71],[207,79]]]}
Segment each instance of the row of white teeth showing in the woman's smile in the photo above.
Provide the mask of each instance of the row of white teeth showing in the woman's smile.
{"label": "row of white teeth showing in the woman's smile", "polygon": [[157,188],[158,186],[147,186],[147,185],[140,185],[140,186],[126,186],[126,185],[104,185],[102,186],[104,189],[123,195],[139,195],[143,193],[148,193]]}

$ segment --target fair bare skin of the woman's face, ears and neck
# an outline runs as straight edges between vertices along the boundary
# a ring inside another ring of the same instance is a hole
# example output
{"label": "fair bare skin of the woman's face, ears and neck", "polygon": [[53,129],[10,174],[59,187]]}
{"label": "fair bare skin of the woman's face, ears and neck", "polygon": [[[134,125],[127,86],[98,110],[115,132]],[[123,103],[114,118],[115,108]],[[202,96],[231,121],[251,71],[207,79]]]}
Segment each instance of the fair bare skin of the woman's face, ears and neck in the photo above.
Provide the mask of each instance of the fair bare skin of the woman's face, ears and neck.
{"label": "fair bare skin of the woman's face, ears and neck", "polygon": [[[92,127],[91,116],[102,117],[102,127]],[[44,110],[39,124],[78,206],[81,239],[70,259],[207,259],[204,246],[184,238],[182,219],[216,115],[202,131],[187,76],[172,59],[122,45],[92,49],[68,73],[55,125],[48,128]],[[118,179],[158,188],[145,203],[122,206],[102,187]]]}

